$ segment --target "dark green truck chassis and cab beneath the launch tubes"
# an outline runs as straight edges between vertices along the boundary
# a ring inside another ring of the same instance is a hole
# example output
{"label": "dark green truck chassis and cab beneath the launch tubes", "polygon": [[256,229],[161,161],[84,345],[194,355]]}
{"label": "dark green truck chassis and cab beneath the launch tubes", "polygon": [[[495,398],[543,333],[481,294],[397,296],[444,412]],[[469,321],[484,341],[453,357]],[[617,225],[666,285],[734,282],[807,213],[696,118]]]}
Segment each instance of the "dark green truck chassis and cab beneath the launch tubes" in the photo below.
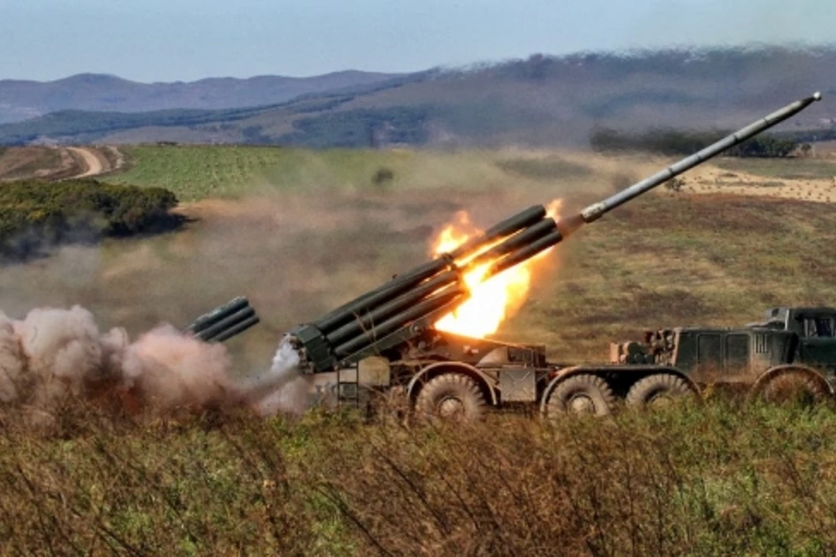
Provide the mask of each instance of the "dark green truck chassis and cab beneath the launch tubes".
{"label": "dark green truck chassis and cab beneath the launch tubes", "polygon": [[[610,345],[607,364],[549,363],[545,347],[468,339],[428,330],[421,351],[360,362],[324,380],[330,402],[370,402],[375,387],[397,387],[413,405],[421,389],[447,374],[466,376],[482,406],[537,403],[544,415],[609,414],[619,405],[645,406],[701,397],[707,387],[730,387],[771,398],[792,387],[813,401],[833,397],[836,384],[836,308],[779,307],[763,322],[739,328],[674,327],[645,332],[640,342]],[[390,355],[391,356],[391,355]],[[396,362],[396,363],[395,363]],[[393,365],[394,364],[394,365]],[[370,372],[375,367],[376,372]]]}

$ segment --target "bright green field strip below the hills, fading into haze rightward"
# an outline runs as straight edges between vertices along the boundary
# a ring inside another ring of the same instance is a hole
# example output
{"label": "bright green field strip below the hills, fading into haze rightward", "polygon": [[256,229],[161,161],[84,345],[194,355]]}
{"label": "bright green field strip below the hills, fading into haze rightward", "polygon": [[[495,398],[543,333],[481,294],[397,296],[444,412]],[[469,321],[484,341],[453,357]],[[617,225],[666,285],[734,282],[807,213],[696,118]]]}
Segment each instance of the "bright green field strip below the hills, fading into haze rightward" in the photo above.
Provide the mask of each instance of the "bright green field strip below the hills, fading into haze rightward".
{"label": "bright green field strip below the hills, fading into haze rightward", "polygon": [[[109,180],[164,187],[184,201],[288,190],[468,190],[509,182],[514,187],[502,168],[507,157],[488,152],[310,151],[212,145],[141,145],[124,150],[131,168]],[[515,160],[512,157],[508,170],[516,169]],[[559,162],[559,158],[553,160],[546,177],[561,175],[570,167]],[[534,177],[543,177],[539,167],[521,168],[516,181],[525,180],[531,171],[539,172]]]}

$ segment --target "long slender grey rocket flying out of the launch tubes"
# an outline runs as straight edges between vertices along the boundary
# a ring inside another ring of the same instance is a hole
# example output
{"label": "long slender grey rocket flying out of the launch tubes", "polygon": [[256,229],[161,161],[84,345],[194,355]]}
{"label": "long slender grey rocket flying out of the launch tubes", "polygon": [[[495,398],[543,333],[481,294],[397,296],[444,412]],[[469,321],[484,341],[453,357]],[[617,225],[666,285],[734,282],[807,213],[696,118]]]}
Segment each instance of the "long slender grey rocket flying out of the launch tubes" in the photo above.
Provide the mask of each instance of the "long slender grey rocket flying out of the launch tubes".
{"label": "long slender grey rocket flying out of the launch tubes", "polygon": [[690,170],[694,166],[699,165],[701,162],[720,154],[722,151],[746,141],[747,139],[761,133],[763,130],[772,128],[772,126],[776,124],[780,124],[784,120],[798,114],[803,109],[806,109],[810,104],[813,104],[821,98],[821,93],[814,93],[806,99],[797,100],[794,103],[788,104],[782,109],[778,109],[772,114],[757,120],[757,122],[753,122],[745,128],[738,129],[733,134],[726,135],[726,137],[716,141],[716,143],[709,145],[705,149],[701,149],[695,154],[687,156],[685,159],[680,160],[674,165],[670,165],[665,170],[660,170],[660,172],[650,176],[650,178],[645,178],[645,180],[636,182],[629,188],[621,190],[603,201],[589,205],[589,207],[581,211],[581,215],[584,217],[584,222],[598,220],[601,216],[609,213],[609,211],[615,209],[619,205],[630,201],[634,197],[642,195],[646,191],[652,190],[657,185],[670,180],[674,176],[681,175],[686,170]]}

